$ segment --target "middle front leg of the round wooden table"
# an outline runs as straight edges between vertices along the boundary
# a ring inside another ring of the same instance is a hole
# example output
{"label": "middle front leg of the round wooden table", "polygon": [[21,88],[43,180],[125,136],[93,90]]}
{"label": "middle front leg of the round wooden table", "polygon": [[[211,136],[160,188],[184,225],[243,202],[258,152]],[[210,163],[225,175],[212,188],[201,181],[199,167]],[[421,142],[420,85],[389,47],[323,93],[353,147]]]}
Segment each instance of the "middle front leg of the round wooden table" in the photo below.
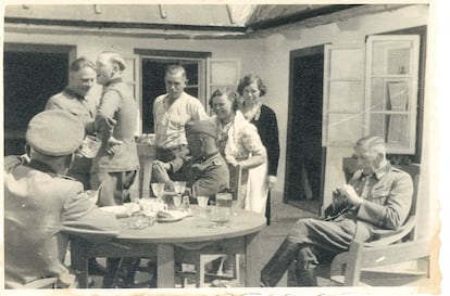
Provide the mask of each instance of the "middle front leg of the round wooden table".
{"label": "middle front leg of the round wooden table", "polygon": [[175,287],[174,246],[159,244],[157,253],[158,287]]}

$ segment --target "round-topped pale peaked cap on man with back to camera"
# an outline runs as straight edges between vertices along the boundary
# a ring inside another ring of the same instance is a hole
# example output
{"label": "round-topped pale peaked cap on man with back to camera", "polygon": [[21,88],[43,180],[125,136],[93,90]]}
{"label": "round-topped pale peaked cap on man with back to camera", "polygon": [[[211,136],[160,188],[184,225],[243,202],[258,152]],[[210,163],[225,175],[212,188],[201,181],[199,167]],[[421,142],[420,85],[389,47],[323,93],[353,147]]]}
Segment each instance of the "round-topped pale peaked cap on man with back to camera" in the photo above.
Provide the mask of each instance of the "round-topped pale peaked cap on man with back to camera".
{"label": "round-topped pale peaked cap on man with back to camera", "polygon": [[32,118],[25,138],[38,153],[63,156],[74,153],[80,146],[85,127],[68,112],[49,110]]}

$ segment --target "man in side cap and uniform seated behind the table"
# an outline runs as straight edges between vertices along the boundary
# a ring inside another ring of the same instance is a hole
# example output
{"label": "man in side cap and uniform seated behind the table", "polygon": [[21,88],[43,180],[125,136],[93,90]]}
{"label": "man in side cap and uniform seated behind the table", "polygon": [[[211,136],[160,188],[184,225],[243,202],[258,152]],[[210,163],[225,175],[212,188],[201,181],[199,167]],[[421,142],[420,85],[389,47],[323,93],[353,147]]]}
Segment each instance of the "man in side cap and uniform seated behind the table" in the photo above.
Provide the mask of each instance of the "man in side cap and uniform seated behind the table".
{"label": "man in side cap and uniform seated behind the table", "polygon": [[209,120],[189,121],[185,126],[189,156],[177,157],[171,163],[155,160],[152,179],[173,189],[168,172],[184,176],[192,196],[210,196],[229,186],[228,166],[215,144],[216,130]]}

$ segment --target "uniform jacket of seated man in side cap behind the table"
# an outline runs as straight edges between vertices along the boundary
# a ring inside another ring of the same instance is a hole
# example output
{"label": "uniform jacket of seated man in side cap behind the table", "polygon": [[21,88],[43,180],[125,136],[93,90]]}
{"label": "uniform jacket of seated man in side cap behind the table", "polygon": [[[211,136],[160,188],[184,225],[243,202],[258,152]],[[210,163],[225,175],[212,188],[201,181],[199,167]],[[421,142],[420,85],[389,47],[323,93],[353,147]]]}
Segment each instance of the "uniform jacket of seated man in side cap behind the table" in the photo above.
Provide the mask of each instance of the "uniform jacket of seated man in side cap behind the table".
{"label": "uniform jacket of seated man in side cap behind the table", "polygon": [[173,172],[180,173],[191,188],[192,196],[215,197],[217,192],[229,189],[229,171],[222,155],[217,152],[200,160],[178,157],[172,163]]}

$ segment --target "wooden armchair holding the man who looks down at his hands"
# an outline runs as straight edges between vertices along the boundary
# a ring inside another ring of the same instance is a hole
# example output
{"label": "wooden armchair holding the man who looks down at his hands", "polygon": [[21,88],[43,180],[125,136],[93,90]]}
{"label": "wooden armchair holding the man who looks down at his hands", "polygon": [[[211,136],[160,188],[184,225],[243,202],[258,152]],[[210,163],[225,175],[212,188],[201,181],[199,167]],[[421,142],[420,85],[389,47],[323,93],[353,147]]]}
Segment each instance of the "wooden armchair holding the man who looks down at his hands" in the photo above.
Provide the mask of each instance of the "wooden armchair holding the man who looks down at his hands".
{"label": "wooden armchair holding the man who looks down at his hands", "polygon": [[[395,263],[408,262],[415,259],[426,258],[429,254],[429,242],[427,240],[415,240],[415,226],[417,223],[416,208],[417,208],[417,192],[418,192],[418,177],[420,166],[415,164],[397,166],[400,169],[409,172],[413,179],[414,192],[413,201],[410,209],[410,215],[403,226],[396,230],[378,230],[378,237],[375,241],[367,243],[353,242],[348,252],[337,255],[332,260],[329,268],[329,279],[332,284],[338,285],[358,285],[360,283],[361,273],[363,269],[378,268]],[[345,158],[342,168],[346,173],[347,181],[357,171],[357,159]],[[318,270],[321,270],[320,268]],[[427,268],[426,268],[427,269]],[[375,272],[373,272],[375,274]],[[393,274],[400,275],[400,274]],[[402,273],[401,275],[413,278],[427,275],[428,271],[414,271]],[[328,274],[327,274],[328,275]],[[373,274],[372,274],[373,275]],[[378,273],[379,278],[384,278],[383,272]],[[292,281],[293,265],[289,268],[289,280]]]}

